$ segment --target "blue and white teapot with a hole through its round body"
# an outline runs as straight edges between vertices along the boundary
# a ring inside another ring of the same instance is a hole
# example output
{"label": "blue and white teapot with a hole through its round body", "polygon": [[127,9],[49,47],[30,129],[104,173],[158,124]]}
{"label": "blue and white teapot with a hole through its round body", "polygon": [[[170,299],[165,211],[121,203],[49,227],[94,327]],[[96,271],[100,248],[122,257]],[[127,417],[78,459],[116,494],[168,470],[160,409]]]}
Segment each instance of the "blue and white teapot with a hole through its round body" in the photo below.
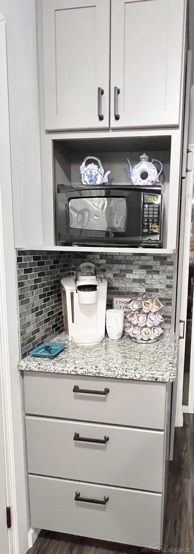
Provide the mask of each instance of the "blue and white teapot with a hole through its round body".
{"label": "blue and white teapot with a hole through its round body", "polygon": [[[150,184],[155,184],[155,182],[159,183],[159,177],[163,170],[160,160],[152,158],[151,162],[149,162],[149,156],[142,154],[142,156],[140,156],[140,162],[136,163],[136,166],[134,167],[132,167],[128,158],[126,158],[126,161],[129,165],[129,178],[133,184],[149,186]],[[159,173],[157,172],[153,162],[160,163],[161,169]]]}

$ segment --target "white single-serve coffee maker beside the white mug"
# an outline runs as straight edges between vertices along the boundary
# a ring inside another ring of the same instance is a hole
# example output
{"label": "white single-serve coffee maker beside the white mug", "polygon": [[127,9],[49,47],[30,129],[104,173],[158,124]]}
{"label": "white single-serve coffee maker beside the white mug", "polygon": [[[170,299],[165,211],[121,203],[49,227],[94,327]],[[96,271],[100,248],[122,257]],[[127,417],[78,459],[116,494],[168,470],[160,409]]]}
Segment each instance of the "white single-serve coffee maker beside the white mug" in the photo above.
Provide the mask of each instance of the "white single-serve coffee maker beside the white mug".
{"label": "white single-serve coffee maker beside the white mug", "polygon": [[107,280],[94,264],[80,264],[74,277],[61,279],[65,335],[80,345],[96,345],[105,335]]}

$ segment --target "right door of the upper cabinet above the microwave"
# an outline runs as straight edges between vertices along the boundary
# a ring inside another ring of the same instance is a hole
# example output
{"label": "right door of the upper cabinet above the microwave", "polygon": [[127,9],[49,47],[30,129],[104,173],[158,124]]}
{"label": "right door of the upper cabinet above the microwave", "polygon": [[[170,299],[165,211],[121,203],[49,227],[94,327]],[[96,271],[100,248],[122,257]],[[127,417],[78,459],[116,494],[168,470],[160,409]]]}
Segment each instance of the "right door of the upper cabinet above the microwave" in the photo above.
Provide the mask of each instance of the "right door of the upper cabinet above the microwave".
{"label": "right door of the upper cabinet above the microwave", "polygon": [[184,17],[185,0],[111,0],[112,128],[178,125]]}

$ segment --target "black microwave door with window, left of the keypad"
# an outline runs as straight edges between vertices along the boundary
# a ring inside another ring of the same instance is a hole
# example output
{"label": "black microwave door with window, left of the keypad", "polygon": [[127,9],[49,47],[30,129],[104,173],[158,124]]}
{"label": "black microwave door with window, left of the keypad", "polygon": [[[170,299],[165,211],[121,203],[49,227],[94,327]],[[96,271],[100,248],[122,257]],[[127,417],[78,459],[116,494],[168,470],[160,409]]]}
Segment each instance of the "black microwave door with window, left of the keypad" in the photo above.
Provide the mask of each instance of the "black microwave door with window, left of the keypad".
{"label": "black microwave door with window, left of the keypad", "polygon": [[58,243],[141,245],[142,189],[114,187],[58,193]]}

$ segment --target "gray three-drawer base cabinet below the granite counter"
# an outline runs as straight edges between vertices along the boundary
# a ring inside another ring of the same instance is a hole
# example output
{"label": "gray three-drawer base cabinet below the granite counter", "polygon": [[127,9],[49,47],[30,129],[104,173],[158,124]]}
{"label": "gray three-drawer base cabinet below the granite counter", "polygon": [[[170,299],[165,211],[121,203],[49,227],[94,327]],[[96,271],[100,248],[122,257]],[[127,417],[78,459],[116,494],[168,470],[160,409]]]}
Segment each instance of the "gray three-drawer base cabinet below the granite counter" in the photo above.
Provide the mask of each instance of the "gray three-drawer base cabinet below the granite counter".
{"label": "gray three-drawer base cabinet below the granite counter", "polygon": [[171,384],[26,371],[24,397],[31,525],[160,547]]}

